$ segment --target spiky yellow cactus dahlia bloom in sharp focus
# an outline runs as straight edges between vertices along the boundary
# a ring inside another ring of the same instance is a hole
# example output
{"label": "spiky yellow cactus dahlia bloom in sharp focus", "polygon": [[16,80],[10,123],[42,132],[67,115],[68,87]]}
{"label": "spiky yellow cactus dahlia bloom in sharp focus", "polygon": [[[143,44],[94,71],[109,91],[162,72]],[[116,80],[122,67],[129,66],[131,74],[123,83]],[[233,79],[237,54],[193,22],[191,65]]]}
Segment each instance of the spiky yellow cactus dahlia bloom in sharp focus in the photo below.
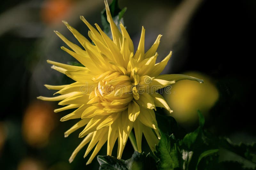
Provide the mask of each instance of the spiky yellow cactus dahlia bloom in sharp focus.
{"label": "spiky yellow cactus dahlia bloom in sharp focus", "polygon": [[156,107],[162,107],[170,113],[172,112],[163,96],[156,90],[183,79],[203,82],[200,79],[181,74],[159,75],[172,55],[170,52],[163,61],[156,63],[158,55],[156,50],[162,35],[157,37],[155,43],[145,53],[145,29],[142,27],[139,46],[134,53],[132,40],[124,25],[120,23],[120,32],[110,15],[106,0],[105,5],[113,40],[100,29],[99,25],[95,24],[97,31],[81,16],[81,20],[90,29],[88,35],[95,44],[92,45],[76,29],[63,21],[84,49],[55,31],[73,51],[65,47],[61,47],[61,49],[72,55],[85,67],[47,60],[53,65],[53,69],[66,74],[76,82],[60,86],[45,85],[48,89],[59,90],[57,93],[60,96],[38,97],[45,101],[61,101],[59,105],[67,105],[54,110],[54,112],[77,108],[60,119],[60,121],[80,119],[65,132],[65,137],[85,126],[79,134],[79,138],[84,138],[84,140],[72,153],[70,162],[73,161],[77,152],[89,142],[84,157],[96,146],[86,164],[92,162],[106,142],[108,143],[107,154],[111,155],[116,140],[118,140],[117,158],[121,159],[132,128],[134,128],[138,151],[141,152],[142,134],[151,150],[154,151],[160,139],[154,110]]}

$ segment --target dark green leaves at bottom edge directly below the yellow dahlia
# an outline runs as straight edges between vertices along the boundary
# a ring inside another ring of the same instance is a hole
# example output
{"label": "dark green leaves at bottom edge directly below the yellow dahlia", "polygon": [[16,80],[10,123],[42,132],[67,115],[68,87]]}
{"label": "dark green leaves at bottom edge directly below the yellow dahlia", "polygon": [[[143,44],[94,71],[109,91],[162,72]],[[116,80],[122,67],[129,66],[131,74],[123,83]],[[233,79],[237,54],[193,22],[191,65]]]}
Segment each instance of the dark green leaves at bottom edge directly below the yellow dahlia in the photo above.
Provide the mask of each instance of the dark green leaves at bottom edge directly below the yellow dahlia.
{"label": "dark green leaves at bottom edge directly below the yellow dahlia", "polygon": [[100,170],[156,170],[156,161],[149,153],[146,155],[144,152],[135,151],[128,160],[116,159],[113,156],[98,156],[97,160],[100,163]]}

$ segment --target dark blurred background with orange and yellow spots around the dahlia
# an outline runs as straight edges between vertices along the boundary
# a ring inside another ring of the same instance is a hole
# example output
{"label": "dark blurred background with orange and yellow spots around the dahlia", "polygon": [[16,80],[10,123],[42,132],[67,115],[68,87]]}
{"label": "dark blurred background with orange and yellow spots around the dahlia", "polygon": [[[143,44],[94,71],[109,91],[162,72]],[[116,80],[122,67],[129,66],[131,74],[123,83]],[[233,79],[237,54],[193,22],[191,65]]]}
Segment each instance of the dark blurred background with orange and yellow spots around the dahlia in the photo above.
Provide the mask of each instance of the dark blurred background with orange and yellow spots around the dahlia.
{"label": "dark blurred background with orange and yellow spots around the dahlia", "polygon": [[[180,81],[173,85],[171,95],[164,94],[179,124],[187,131],[194,130],[200,110],[206,117],[206,128],[213,134],[229,137],[235,143],[255,142],[256,1],[120,0],[119,3],[121,8],[127,7],[124,24],[135,48],[142,25],[146,29],[146,49],[158,34],[163,34],[158,61],[173,51],[164,73],[186,73],[205,81],[204,84]],[[68,112],[56,114],[53,110],[59,107],[57,102],[38,101],[36,96],[53,94],[44,84],[72,82],[46,63],[47,59],[75,61],[60,49],[65,45],[53,30],[78,43],[61,20],[87,35],[88,28],[79,16],[101,25],[103,8],[103,0],[1,2],[1,169],[99,167],[96,158],[85,166],[88,159],[83,159],[85,149],[68,163],[82,139],[78,138],[79,131],[68,138],[64,138],[64,132],[76,120],[59,122]],[[143,145],[143,150],[148,151],[148,147]],[[122,158],[128,159],[132,153],[128,142]],[[99,152],[105,154],[106,146]],[[222,159],[230,157],[224,155]]]}

